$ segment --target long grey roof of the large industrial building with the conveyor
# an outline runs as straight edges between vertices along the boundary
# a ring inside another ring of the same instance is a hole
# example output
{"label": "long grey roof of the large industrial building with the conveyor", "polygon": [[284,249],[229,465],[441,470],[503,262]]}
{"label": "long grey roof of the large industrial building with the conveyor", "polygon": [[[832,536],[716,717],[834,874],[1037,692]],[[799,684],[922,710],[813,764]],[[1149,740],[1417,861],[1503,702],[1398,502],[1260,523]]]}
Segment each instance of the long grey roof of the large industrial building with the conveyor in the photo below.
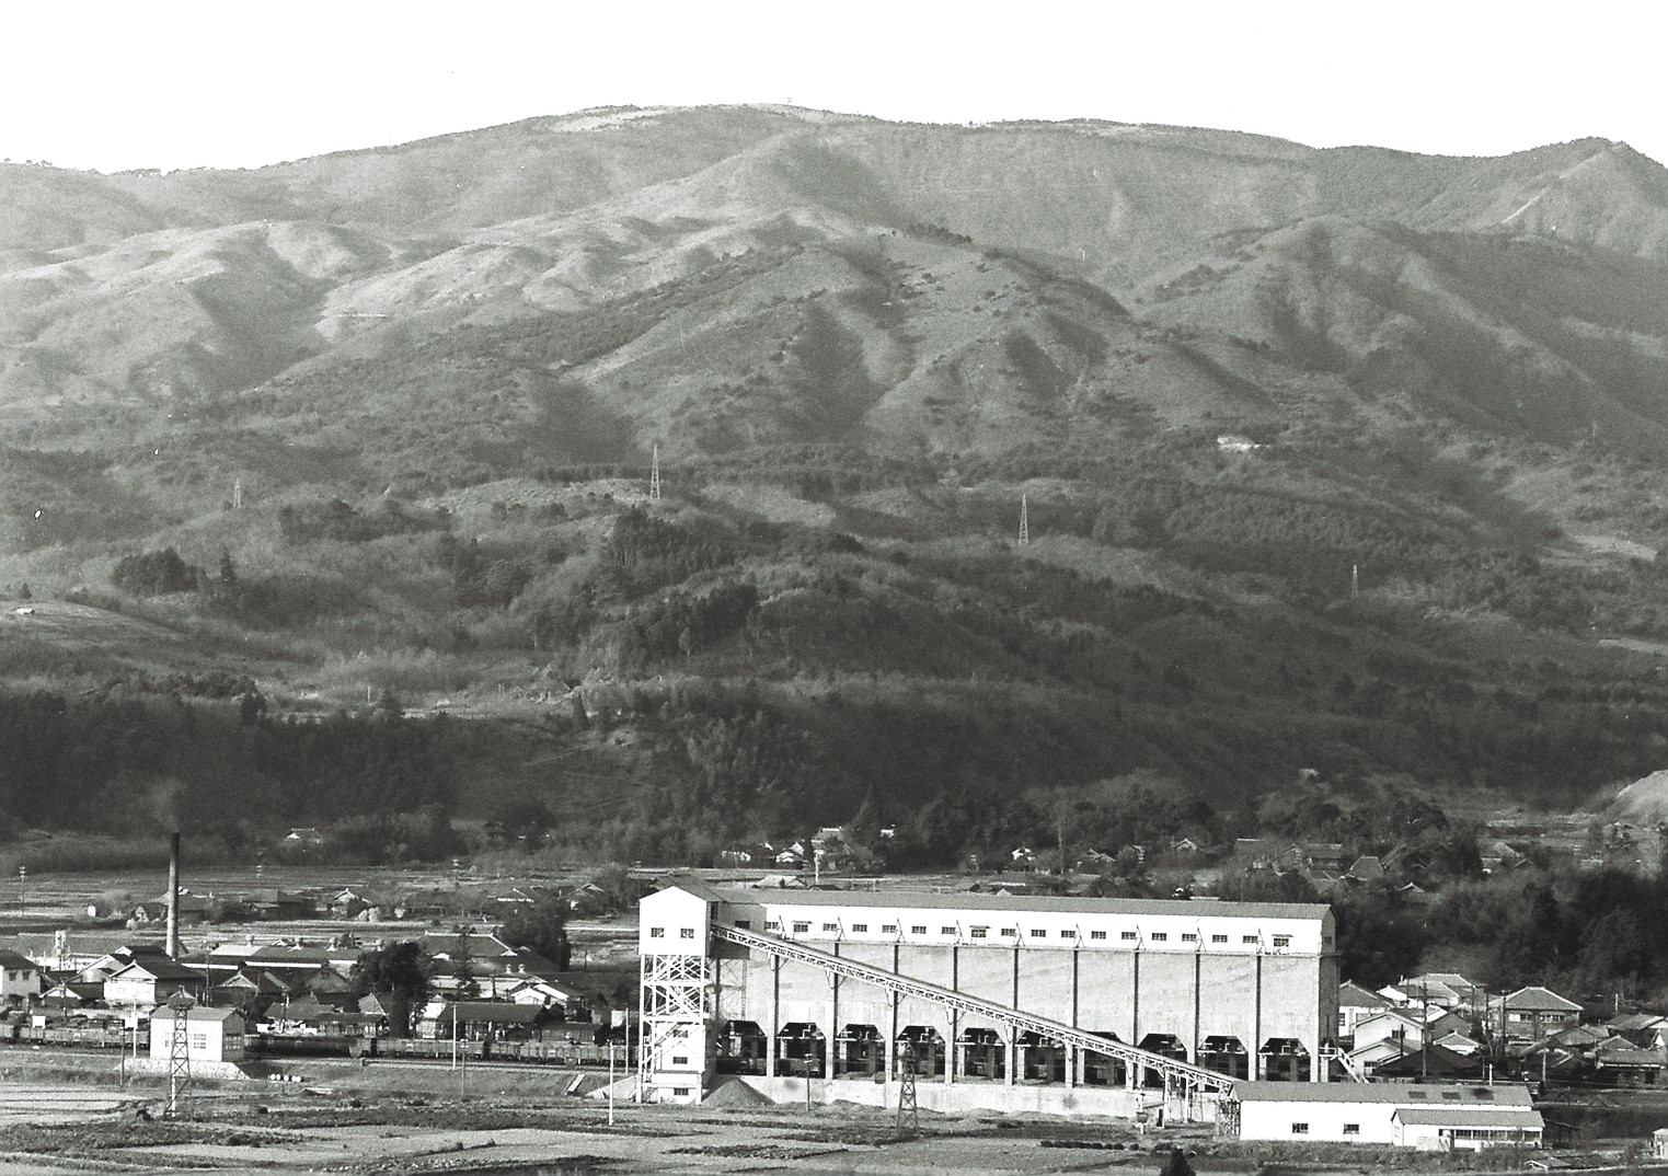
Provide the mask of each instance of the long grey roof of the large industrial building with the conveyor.
{"label": "long grey roof of the large industrial building with the conveyor", "polygon": [[734,906],[861,906],[891,911],[1032,911],[1037,914],[1151,914],[1194,919],[1324,919],[1319,902],[1194,902],[1191,899],[1079,899],[934,891],[749,891],[686,886],[697,897]]}

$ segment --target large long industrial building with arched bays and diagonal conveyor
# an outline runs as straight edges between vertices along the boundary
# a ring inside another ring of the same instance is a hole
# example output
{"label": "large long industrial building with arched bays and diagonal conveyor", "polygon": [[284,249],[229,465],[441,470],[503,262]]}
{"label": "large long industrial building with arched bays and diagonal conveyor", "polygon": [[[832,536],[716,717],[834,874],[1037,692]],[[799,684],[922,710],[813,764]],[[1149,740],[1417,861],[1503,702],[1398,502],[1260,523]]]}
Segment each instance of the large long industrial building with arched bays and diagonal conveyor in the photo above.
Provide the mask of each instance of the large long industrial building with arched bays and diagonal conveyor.
{"label": "large long industrial building with arched bays and diagonal conveyor", "polygon": [[641,904],[642,1096],[1208,1118],[1234,1079],[1321,1083],[1331,909],[714,887]]}

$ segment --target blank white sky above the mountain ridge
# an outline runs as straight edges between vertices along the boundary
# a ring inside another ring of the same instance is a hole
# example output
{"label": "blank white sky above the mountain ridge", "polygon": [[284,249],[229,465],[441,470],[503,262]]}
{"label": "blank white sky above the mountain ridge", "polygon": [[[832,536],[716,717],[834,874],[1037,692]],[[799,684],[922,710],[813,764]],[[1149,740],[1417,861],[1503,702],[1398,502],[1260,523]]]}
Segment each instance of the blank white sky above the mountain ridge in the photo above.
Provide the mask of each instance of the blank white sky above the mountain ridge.
{"label": "blank white sky above the mountain ridge", "polygon": [[0,157],[259,167],[600,105],[779,102],[916,122],[1106,118],[1313,147],[1668,162],[1668,5],[8,5]]}

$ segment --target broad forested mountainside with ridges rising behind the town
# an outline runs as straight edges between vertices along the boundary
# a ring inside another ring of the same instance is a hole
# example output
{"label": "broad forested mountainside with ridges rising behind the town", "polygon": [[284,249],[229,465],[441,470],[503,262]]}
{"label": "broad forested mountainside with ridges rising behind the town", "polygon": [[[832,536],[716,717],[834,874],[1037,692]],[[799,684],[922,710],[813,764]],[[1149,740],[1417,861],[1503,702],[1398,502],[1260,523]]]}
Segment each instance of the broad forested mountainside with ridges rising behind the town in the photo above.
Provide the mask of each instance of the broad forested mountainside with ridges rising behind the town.
{"label": "broad forested mountainside with ridges rising behind the town", "polygon": [[0,816],[947,862],[1133,779],[1585,801],[1668,752],[1665,195],[749,108],[0,167]]}

